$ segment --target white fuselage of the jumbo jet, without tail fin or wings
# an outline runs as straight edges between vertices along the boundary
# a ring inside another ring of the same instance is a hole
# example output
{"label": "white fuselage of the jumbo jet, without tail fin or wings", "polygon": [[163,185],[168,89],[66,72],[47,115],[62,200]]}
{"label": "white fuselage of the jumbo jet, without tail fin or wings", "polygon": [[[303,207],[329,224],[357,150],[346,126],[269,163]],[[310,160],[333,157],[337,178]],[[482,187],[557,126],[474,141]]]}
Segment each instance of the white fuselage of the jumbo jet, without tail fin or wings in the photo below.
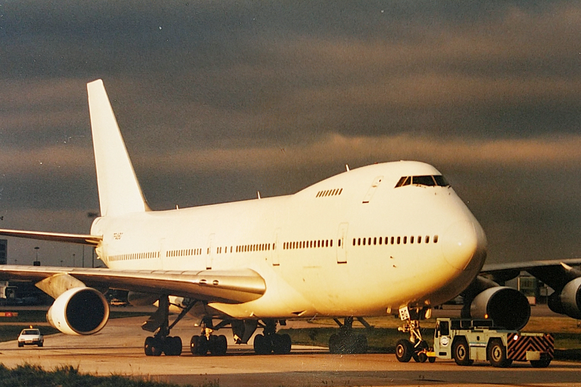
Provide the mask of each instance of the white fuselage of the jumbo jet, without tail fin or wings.
{"label": "white fuselage of the jumbo jet, without tail fin or wings", "polygon": [[381,316],[453,298],[485,261],[482,227],[450,186],[396,187],[433,175],[374,164],[288,196],[105,216],[91,234],[111,269],[256,271],[259,299],[211,303],[231,317]]}

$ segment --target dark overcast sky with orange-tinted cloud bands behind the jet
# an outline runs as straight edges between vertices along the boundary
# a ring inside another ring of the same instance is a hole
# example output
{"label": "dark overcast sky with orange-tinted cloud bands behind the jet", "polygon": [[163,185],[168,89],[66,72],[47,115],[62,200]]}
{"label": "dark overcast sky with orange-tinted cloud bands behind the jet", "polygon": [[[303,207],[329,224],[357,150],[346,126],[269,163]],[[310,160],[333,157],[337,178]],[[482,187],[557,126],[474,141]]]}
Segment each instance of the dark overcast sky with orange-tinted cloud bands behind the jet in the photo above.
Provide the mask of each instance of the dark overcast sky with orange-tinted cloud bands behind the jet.
{"label": "dark overcast sky with orange-tinted cloud bands behind the jet", "polygon": [[[88,232],[102,78],[154,209],[420,160],[487,262],[578,257],[580,37],[571,1],[0,1],[0,227]],[[35,246],[80,266],[9,263]]]}

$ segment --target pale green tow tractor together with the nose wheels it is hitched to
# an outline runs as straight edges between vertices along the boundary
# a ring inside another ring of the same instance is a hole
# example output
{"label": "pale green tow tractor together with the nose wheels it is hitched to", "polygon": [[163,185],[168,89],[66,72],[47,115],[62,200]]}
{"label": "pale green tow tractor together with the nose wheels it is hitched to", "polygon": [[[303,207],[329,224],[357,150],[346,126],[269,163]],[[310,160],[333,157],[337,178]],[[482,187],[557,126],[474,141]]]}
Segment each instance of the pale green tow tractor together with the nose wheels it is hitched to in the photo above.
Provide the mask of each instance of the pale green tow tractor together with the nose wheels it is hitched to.
{"label": "pale green tow tractor together with the nose wheels it is hitched to", "polygon": [[487,360],[494,367],[508,367],[512,361],[530,361],[533,367],[547,367],[554,354],[550,334],[519,332],[494,327],[493,320],[437,319],[432,350],[418,348],[406,339],[397,342],[399,361],[454,359],[460,366]]}

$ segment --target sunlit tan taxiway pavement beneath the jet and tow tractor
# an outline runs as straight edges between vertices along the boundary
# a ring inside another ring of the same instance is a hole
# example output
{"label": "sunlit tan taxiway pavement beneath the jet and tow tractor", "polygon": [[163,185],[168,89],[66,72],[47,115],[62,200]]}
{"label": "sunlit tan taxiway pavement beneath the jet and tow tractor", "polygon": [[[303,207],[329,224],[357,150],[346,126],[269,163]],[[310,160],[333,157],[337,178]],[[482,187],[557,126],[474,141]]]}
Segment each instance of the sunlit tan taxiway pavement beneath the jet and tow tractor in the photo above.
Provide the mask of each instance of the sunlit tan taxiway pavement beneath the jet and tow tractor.
{"label": "sunlit tan taxiway pavement beneath the jet and tow tractor", "polygon": [[[290,355],[254,355],[252,346],[232,345],[226,356],[193,356],[189,352],[190,324],[178,324],[172,335],[184,341],[183,355],[146,357],[148,332],[144,317],[110,320],[98,334],[46,337],[43,348],[18,348],[16,341],[0,343],[0,362],[8,367],[38,364],[46,369],[71,365],[98,375],[144,376],[156,381],[220,386],[581,386],[581,363],[554,361],[544,369],[515,363],[507,369],[482,363],[471,367],[453,361],[399,363],[394,355],[330,355],[325,348],[293,346]],[[185,321],[184,321],[185,322]],[[180,327],[180,325],[182,325]]]}

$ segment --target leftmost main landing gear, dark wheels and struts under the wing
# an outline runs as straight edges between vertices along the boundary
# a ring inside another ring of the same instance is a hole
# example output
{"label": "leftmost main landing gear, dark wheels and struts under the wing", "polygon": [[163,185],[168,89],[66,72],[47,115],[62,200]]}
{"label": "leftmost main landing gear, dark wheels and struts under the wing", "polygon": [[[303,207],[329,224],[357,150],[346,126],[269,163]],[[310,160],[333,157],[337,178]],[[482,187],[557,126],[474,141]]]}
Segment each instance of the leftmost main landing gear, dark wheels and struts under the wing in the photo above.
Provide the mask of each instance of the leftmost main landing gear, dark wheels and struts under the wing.
{"label": "leftmost main landing gear, dark wheels and struts under the wing", "polygon": [[165,353],[166,356],[180,356],[182,352],[182,341],[178,336],[171,337],[170,330],[177,324],[178,321],[185,316],[186,313],[192,308],[194,302],[184,308],[182,312],[176,317],[175,321],[169,325],[168,315],[170,308],[170,301],[168,296],[160,296],[159,307],[157,311],[149,317],[147,321],[141,328],[149,331],[156,332],[153,337],[148,337],[145,339],[144,352],[146,356],[160,356]]}

